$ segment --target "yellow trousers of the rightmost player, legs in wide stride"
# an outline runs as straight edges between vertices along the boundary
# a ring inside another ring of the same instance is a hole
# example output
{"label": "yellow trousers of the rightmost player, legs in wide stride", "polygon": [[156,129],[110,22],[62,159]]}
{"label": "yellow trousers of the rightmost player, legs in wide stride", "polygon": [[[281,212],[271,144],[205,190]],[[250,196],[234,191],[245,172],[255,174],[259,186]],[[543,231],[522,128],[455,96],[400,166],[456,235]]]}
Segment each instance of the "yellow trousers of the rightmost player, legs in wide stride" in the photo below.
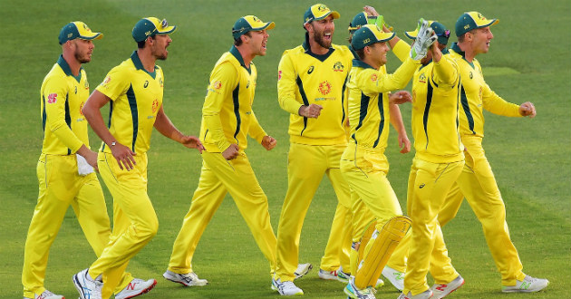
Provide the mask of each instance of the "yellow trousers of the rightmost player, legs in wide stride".
{"label": "yellow trousers of the rightmost player, legs in wide stride", "polygon": [[456,216],[465,197],[482,225],[489,251],[501,274],[502,285],[516,285],[516,280],[523,280],[526,275],[522,271],[518,250],[509,237],[506,207],[486,159],[482,138],[464,135],[461,139],[466,148],[466,166],[440,211],[440,226]]}

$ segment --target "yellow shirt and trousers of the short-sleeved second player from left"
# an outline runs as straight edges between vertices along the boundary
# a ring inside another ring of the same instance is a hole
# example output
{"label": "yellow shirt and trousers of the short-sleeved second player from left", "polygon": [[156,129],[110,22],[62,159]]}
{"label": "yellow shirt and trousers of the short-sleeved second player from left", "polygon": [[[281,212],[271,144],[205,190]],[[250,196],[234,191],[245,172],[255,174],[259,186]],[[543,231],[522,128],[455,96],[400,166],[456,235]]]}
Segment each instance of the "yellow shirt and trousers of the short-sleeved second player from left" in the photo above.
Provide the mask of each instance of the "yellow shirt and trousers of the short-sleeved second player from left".
{"label": "yellow shirt and trousers of the short-sleeved second player from left", "polygon": [[113,231],[102,256],[90,266],[89,275],[103,275],[105,288],[117,283],[131,257],[157,234],[159,220],[147,194],[147,150],[162,105],[163,86],[160,67],[147,72],[135,51],[111,69],[97,87],[111,99],[111,134],[136,153],[136,165],[131,170],[121,169],[104,143],[98,156],[100,173],[113,196]]}

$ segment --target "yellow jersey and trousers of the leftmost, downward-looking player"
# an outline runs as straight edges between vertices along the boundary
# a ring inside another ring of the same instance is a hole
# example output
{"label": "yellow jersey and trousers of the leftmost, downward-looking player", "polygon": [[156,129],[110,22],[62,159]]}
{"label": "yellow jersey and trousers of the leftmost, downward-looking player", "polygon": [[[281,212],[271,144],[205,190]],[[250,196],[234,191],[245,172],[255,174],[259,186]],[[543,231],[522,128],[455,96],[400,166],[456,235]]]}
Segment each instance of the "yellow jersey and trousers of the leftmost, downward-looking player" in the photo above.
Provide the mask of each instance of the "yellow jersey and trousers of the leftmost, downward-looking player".
{"label": "yellow jersey and trousers of the leftmost, downward-looking player", "polygon": [[[78,174],[75,153],[82,145],[89,149],[87,121],[82,114],[89,92],[85,71],[81,68],[78,76],[73,76],[63,56],[42,83],[44,144],[36,168],[39,196],[26,238],[22,272],[24,297],[27,298],[45,291],[50,247],[70,205],[97,256],[102,254],[111,236],[107,207],[97,176],[95,173]],[[129,284],[131,279],[131,275],[125,275],[118,289]]]}

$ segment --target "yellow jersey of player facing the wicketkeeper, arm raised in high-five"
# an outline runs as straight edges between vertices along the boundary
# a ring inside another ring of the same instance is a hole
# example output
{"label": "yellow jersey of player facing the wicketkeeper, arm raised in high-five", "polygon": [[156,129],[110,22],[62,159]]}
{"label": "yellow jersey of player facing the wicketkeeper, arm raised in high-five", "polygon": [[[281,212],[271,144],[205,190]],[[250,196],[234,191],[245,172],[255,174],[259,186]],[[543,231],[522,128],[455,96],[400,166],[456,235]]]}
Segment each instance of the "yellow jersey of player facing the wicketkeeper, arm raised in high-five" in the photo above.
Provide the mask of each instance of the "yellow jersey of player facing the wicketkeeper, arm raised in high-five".
{"label": "yellow jersey of player facing the wicketkeeper, arm raised in high-five", "polygon": [[412,136],[416,157],[432,163],[464,159],[460,141],[460,71],[443,53],[439,63],[421,66],[412,82]]}

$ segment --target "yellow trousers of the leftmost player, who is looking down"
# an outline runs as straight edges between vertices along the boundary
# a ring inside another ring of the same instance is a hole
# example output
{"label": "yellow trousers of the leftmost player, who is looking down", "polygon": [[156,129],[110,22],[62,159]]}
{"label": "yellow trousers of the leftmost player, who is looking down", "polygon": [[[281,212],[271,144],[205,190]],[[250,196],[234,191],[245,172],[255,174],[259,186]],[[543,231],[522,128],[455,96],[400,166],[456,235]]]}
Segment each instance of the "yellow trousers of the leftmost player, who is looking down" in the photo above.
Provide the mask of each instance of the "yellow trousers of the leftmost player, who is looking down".
{"label": "yellow trousers of the leftmost player, who is looking down", "polygon": [[[45,269],[50,247],[70,205],[96,256],[102,254],[111,235],[101,184],[95,173],[83,177],[77,173],[75,155],[42,154],[36,174],[39,183],[38,202],[24,246],[22,271],[24,297],[28,298],[34,298],[34,294],[45,291]],[[120,285],[128,285],[131,279],[130,274],[125,274]]]}

